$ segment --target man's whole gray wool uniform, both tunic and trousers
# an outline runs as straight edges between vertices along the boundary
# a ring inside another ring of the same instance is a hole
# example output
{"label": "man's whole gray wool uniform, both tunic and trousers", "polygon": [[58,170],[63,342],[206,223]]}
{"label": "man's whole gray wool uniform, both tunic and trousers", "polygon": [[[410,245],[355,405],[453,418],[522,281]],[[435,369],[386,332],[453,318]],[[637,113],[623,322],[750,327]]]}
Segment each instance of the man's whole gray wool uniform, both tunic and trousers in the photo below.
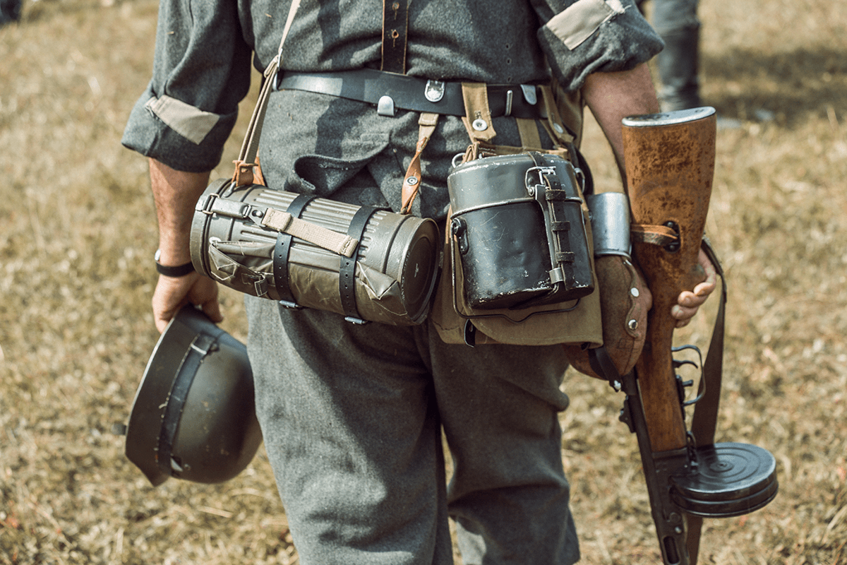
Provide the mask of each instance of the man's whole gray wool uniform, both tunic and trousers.
{"label": "man's whole gray wool uniform, both tunic and trousers", "polygon": [[[288,2],[162,0],[152,80],[126,147],[174,169],[219,163],[249,86],[280,44]],[[379,69],[382,3],[303,0],[285,42],[289,71]],[[576,90],[632,69],[662,42],[628,0],[411,0],[407,75]],[[548,66],[549,64],[549,66]],[[494,141],[519,146],[514,119]],[[418,114],[274,91],[260,158],[268,186],[400,208]],[[547,140],[549,141],[549,140]],[[451,159],[468,146],[442,116],[422,156],[413,213],[443,219]],[[561,347],[442,343],[428,323],[348,324],[246,298],[257,416],[304,565],[579,560],[557,413]],[[443,429],[452,474],[446,485]]]}

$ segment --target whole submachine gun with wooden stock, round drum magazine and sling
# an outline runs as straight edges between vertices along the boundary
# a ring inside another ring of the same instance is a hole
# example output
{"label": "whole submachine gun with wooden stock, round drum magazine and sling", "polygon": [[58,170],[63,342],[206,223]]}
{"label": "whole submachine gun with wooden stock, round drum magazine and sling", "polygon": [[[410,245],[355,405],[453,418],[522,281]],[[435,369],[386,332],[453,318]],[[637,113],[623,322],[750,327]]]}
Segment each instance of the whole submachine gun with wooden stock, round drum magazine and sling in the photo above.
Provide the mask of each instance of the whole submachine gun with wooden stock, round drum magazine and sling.
{"label": "whole submachine gun with wooden stock, round drum magazine and sling", "polygon": [[[703,517],[739,516],[777,494],[776,465],[761,447],[714,443],[721,388],[726,285],[699,391],[686,402],[673,352],[671,307],[705,279],[697,262],[715,163],[714,108],[623,119],[633,255],[653,294],[645,347],[634,371],[612,380],[625,392],[621,420],[638,438],[650,507],[666,565],[697,560]],[[706,244],[706,252],[711,246]],[[720,273],[719,263],[711,261]],[[699,350],[696,350],[699,354]],[[692,428],[685,407],[695,404]]]}

